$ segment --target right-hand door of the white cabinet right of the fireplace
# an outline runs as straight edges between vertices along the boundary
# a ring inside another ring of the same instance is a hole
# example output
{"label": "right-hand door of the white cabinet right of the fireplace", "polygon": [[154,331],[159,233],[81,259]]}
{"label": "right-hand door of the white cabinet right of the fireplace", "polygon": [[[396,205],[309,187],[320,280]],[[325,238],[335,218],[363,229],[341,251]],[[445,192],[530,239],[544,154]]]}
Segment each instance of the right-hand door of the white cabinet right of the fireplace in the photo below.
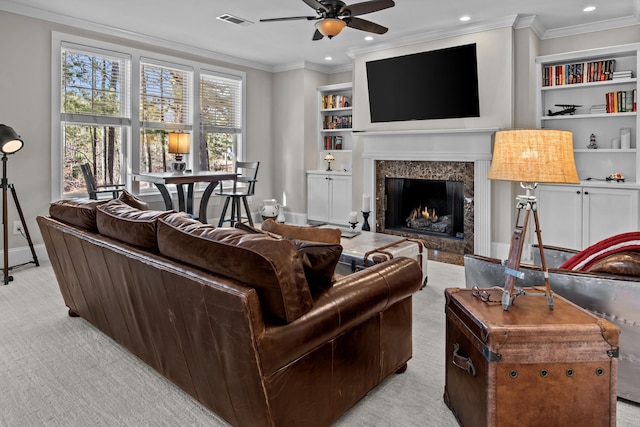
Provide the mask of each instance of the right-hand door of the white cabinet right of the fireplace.
{"label": "right-hand door of the white cabinet right of the fireplace", "polygon": [[638,190],[583,190],[583,249],[607,237],[638,230]]}

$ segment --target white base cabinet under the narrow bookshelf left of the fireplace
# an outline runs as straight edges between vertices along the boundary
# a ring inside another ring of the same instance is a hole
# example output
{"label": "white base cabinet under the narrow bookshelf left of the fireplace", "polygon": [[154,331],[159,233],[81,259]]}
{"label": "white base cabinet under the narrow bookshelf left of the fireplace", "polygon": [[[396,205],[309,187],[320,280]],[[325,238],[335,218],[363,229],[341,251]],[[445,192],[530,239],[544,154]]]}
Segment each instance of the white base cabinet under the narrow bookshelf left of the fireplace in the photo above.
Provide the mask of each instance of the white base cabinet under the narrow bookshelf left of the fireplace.
{"label": "white base cabinet under the narrow bookshelf left of the fireplace", "polygon": [[351,209],[351,175],[307,172],[307,218],[347,226]]}

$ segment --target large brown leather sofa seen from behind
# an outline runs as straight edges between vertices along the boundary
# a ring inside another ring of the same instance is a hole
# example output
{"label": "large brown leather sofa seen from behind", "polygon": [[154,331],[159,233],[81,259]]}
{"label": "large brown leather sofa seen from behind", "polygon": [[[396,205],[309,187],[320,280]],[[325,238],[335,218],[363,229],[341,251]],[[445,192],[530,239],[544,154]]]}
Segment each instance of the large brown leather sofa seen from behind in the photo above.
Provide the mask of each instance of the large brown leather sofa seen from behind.
{"label": "large brown leather sofa seen from behind", "polygon": [[69,313],[232,425],[330,425],[411,358],[414,260],[336,278],[340,245],[120,201],[37,221]]}

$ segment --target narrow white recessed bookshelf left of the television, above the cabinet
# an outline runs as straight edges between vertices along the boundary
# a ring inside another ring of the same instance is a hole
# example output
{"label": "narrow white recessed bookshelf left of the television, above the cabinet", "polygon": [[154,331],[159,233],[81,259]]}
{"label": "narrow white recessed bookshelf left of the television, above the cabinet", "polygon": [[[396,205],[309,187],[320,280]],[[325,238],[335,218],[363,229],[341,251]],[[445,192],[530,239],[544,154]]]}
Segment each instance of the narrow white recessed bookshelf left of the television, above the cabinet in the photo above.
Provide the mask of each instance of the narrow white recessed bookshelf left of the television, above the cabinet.
{"label": "narrow white recessed bookshelf left of the television, above the cabinet", "polygon": [[326,167],[324,157],[335,157],[332,167],[351,170],[351,130],[353,85],[340,83],[320,86],[318,90],[318,167]]}

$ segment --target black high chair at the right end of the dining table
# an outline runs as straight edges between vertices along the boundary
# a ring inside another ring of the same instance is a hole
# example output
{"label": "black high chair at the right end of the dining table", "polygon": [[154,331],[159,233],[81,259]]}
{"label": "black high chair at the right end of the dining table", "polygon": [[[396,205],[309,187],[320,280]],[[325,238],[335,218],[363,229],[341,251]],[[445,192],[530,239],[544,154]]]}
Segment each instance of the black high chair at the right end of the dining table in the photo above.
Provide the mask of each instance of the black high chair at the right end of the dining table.
{"label": "black high chair at the right end of the dining table", "polygon": [[[225,222],[230,222],[233,227],[237,222],[245,222],[243,219],[246,219],[249,225],[253,227],[253,219],[251,218],[247,197],[253,196],[255,192],[259,166],[260,162],[236,162],[235,172],[238,174],[238,178],[233,181],[233,186],[225,189],[223,183],[220,183],[220,191],[216,195],[224,196],[226,199],[220,214],[218,227],[222,227]],[[242,201],[242,205],[240,201]],[[231,203],[231,216],[226,219],[229,203]],[[244,206],[246,217],[242,216],[242,206]]]}

